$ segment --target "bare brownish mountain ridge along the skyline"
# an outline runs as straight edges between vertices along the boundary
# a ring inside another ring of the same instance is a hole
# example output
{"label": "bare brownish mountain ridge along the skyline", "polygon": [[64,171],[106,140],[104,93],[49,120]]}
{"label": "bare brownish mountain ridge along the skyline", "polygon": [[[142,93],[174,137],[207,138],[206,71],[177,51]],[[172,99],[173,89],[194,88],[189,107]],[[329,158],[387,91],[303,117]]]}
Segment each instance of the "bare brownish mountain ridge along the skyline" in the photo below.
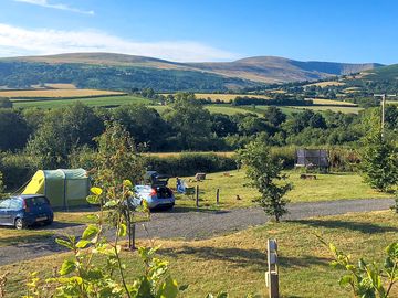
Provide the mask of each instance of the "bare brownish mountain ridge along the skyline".
{"label": "bare brownish mountain ridge along the skyline", "polygon": [[[179,70],[181,72],[196,71],[262,83],[315,81],[328,76],[359,73],[383,66],[383,64],[378,63],[302,62],[277,56],[255,56],[233,62],[178,63],[154,57],[115,53],[71,53],[6,60],[49,64],[80,63],[106,66],[148,67],[157,70]],[[4,58],[0,61],[4,61]]]}

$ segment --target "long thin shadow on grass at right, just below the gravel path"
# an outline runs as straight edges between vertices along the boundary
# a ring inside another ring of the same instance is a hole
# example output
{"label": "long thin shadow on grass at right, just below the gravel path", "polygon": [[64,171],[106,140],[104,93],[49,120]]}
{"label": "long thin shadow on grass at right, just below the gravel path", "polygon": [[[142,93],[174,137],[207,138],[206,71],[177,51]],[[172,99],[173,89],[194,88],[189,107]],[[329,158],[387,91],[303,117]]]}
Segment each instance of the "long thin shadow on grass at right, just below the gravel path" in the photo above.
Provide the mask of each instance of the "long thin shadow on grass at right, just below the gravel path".
{"label": "long thin shadow on grass at right, just below the gravel path", "polygon": [[381,234],[386,232],[398,232],[397,227],[383,226],[374,223],[346,222],[346,221],[321,221],[321,220],[295,220],[293,223],[305,224],[314,227],[339,228],[360,232],[364,234]]}

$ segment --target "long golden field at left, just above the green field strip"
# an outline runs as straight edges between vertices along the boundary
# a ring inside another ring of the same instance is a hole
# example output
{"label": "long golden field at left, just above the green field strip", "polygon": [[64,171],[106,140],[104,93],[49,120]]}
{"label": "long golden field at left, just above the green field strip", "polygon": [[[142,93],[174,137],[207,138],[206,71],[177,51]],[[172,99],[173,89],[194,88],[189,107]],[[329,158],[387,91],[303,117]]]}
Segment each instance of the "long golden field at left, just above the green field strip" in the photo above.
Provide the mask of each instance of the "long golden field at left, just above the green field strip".
{"label": "long golden field at left, just above the green field strip", "polygon": [[84,97],[101,95],[123,95],[122,92],[97,89],[39,89],[39,91],[0,91],[0,97],[9,98],[56,98],[56,97]]}

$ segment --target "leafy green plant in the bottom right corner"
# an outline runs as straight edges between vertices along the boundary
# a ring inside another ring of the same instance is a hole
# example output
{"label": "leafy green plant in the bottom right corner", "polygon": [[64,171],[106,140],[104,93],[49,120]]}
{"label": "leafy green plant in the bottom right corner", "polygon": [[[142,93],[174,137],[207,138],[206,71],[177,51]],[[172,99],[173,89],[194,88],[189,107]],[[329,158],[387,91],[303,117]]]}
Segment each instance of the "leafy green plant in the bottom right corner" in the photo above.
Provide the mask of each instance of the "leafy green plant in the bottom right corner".
{"label": "leafy green plant in the bottom right corner", "polygon": [[387,256],[384,265],[379,266],[375,262],[367,263],[364,258],[359,258],[356,264],[350,255],[338,251],[334,244],[320,240],[333,253],[331,266],[345,270],[338,281],[342,287],[349,287],[355,297],[391,297],[390,292],[398,283],[398,242],[386,247]]}

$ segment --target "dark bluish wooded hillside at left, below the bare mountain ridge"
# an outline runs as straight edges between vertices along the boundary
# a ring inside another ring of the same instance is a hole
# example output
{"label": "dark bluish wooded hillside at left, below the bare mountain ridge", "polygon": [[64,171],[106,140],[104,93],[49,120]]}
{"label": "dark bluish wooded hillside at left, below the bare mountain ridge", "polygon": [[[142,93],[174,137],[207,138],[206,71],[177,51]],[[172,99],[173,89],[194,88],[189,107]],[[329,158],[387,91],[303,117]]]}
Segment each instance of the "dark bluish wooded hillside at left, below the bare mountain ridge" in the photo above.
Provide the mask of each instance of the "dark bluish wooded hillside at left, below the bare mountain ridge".
{"label": "dark bluish wooded hillside at left, below the bare mountain ridge", "polygon": [[0,86],[29,88],[44,83],[72,83],[80,88],[130,92],[154,88],[176,91],[227,91],[229,85],[261,85],[217,74],[157,70],[148,67],[100,66],[86,64],[46,64],[32,62],[0,62]]}

